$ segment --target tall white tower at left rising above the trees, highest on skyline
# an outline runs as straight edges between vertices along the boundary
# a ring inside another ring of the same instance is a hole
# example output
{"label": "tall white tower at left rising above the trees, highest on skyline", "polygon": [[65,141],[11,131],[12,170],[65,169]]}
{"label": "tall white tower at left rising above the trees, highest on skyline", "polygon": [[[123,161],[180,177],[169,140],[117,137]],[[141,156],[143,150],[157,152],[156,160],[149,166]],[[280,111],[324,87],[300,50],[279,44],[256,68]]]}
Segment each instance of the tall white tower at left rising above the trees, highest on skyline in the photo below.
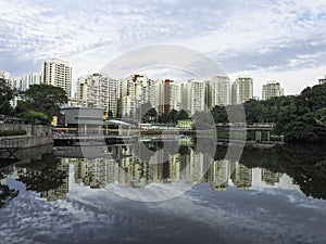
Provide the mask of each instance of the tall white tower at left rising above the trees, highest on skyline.
{"label": "tall white tower at left rising above the trees, highest on skyline", "polygon": [[55,60],[45,62],[43,81],[47,85],[61,87],[67,97],[72,92],[72,67],[67,61]]}

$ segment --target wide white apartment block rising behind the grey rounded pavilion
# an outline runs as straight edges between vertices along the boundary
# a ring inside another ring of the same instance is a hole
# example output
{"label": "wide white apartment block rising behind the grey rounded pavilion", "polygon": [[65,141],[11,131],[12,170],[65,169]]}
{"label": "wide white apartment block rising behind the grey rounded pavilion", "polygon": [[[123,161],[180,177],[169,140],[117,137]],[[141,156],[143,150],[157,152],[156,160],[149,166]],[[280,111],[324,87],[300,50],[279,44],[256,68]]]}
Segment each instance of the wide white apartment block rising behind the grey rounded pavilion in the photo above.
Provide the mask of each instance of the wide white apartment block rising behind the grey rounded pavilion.
{"label": "wide white apartment block rising behind the grey rounded pavilion", "polygon": [[82,106],[103,108],[117,113],[118,82],[105,74],[92,74],[77,80],[76,100]]}

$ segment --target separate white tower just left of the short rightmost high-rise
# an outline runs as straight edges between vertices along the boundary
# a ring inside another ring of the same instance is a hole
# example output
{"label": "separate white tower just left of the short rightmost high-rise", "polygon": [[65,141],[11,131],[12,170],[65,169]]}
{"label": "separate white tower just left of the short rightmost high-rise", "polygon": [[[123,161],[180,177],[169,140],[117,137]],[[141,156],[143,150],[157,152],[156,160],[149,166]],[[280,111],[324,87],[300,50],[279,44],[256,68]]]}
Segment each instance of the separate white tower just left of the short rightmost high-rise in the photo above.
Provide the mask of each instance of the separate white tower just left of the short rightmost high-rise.
{"label": "separate white tower just left of the short rightmost high-rise", "polygon": [[233,104],[244,103],[253,98],[253,80],[250,76],[238,76],[233,85]]}

